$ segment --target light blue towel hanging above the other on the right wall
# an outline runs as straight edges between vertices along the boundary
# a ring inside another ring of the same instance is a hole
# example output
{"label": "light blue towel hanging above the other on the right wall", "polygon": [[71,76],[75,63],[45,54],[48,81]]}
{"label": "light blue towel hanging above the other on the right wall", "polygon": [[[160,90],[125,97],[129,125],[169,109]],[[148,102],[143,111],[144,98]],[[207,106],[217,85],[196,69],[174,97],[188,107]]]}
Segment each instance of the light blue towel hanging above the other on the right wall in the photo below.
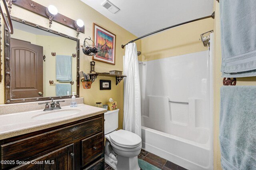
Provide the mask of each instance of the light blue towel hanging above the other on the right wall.
{"label": "light blue towel hanging above the other on the right wall", "polygon": [[255,0],[220,0],[222,77],[256,76],[255,9]]}

